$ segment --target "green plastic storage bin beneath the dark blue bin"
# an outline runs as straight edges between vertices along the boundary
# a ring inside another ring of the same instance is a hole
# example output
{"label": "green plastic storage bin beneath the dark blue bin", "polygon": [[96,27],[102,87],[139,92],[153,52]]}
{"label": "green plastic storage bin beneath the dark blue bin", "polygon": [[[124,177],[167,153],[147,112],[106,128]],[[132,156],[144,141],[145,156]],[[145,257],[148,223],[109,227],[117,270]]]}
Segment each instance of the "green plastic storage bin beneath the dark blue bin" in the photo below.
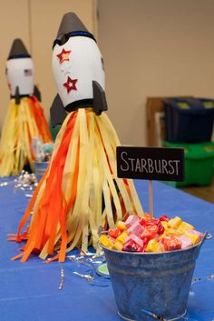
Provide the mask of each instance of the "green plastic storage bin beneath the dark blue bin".
{"label": "green plastic storage bin beneath the dark blue bin", "polygon": [[183,144],[163,142],[170,148],[184,148],[185,180],[169,182],[171,186],[209,186],[211,184],[214,166],[214,142],[199,144]]}

